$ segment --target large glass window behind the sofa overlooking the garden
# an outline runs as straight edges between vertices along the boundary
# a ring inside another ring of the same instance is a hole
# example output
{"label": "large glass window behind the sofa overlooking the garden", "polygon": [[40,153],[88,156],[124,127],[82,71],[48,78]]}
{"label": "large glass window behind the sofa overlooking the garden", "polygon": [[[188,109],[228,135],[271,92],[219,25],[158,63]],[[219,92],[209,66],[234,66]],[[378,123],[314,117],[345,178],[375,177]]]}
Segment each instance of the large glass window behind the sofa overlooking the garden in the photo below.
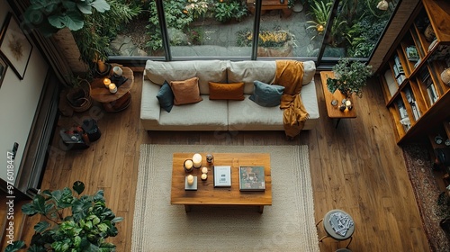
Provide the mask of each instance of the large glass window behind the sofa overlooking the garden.
{"label": "large glass window behind the sofa overlooking the garden", "polygon": [[132,4],[141,12],[113,38],[115,56],[314,60],[369,58],[398,2],[116,1]]}

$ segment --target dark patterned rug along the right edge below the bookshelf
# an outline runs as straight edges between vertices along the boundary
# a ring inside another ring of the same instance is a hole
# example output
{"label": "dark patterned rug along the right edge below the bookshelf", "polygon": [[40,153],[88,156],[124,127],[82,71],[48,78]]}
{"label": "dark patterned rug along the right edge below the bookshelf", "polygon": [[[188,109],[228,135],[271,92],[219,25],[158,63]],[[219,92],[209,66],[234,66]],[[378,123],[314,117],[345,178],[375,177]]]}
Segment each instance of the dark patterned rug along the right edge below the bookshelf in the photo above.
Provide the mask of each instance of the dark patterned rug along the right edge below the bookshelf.
{"label": "dark patterned rug along the right edge below the bookshelf", "polygon": [[427,234],[431,251],[450,251],[448,234],[440,228],[442,220],[437,198],[441,191],[437,186],[437,175],[433,172],[433,160],[428,149],[419,144],[402,146],[410,182],[418,202],[420,217]]}

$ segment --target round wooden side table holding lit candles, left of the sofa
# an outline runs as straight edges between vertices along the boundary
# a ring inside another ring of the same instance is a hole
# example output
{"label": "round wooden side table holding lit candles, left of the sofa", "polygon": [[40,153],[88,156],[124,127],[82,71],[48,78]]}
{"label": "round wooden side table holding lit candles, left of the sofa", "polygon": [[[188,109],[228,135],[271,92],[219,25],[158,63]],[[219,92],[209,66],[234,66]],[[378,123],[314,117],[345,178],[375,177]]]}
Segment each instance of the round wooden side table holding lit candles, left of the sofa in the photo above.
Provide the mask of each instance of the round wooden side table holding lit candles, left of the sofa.
{"label": "round wooden side table holding lit candles, left of the sofa", "polygon": [[[91,83],[91,97],[103,104],[106,112],[120,112],[126,109],[131,103],[130,89],[134,83],[134,74],[130,67],[123,67],[118,64],[112,64],[112,67],[121,67],[122,76],[128,78],[125,83],[117,88],[117,93],[111,94],[103,85],[103,78],[95,78]],[[112,71],[112,70],[111,70]],[[112,76],[112,72],[105,77]]]}

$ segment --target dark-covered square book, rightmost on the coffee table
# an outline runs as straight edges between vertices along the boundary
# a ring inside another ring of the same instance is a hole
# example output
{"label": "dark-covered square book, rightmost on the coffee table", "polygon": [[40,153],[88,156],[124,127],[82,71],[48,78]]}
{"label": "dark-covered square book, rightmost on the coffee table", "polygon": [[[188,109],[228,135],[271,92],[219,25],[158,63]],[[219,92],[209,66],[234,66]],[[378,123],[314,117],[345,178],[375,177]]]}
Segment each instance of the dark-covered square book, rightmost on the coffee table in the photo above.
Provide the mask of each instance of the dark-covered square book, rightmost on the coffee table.
{"label": "dark-covered square book, rightmost on the coffee table", "polygon": [[239,166],[240,191],[265,191],[264,166]]}

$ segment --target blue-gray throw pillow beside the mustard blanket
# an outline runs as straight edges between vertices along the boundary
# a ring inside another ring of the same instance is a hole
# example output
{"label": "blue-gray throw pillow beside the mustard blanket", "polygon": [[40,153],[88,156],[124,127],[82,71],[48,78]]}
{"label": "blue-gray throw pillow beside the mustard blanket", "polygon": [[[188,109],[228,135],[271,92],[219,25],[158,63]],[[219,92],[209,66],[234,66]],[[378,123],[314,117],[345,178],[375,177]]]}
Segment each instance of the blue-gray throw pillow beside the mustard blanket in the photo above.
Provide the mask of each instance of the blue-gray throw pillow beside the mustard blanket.
{"label": "blue-gray throw pillow beside the mustard blanket", "polygon": [[263,107],[275,107],[281,102],[284,92],[283,85],[268,85],[258,80],[253,82],[253,94],[248,97],[253,102]]}

